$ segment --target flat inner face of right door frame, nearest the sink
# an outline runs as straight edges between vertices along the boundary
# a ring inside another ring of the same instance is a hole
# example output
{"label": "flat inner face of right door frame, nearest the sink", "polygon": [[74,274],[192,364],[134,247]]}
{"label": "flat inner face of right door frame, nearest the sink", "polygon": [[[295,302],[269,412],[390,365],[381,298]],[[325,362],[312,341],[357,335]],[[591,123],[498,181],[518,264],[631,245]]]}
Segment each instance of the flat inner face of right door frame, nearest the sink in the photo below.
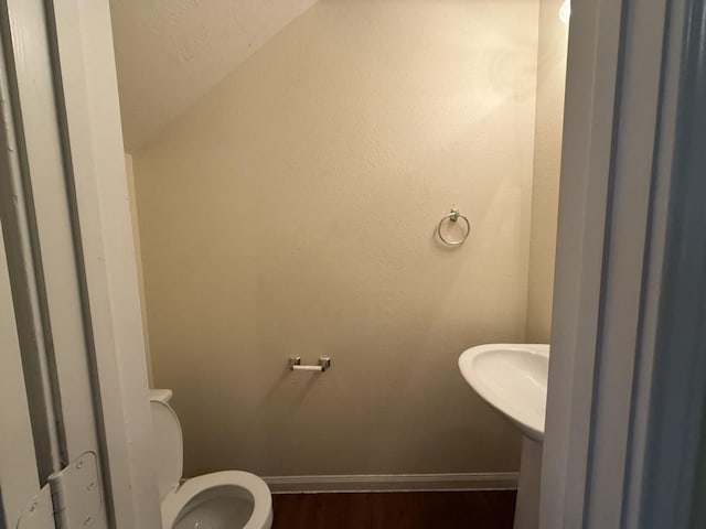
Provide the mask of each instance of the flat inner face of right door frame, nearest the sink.
{"label": "flat inner face of right door frame, nearest the sink", "polygon": [[[574,2],[541,527],[581,527],[609,205],[621,3]],[[567,509],[566,506],[576,506]]]}

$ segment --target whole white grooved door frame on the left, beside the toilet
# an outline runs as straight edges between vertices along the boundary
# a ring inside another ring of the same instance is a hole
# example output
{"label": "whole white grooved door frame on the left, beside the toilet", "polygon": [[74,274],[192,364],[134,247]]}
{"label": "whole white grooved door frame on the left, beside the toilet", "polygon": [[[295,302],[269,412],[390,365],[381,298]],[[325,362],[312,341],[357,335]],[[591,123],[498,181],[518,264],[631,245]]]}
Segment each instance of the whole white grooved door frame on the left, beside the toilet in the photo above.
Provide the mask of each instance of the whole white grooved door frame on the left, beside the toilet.
{"label": "whole white grooved door frame on the left, beside the toilet", "polygon": [[[43,458],[38,485],[92,451],[106,488],[106,508],[93,525],[161,527],[108,2],[2,0],[0,15],[21,132],[21,177],[4,186],[3,213],[14,219],[26,209],[31,225],[29,256],[17,266],[11,257],[10,272],[14,288],[23,270],[38,270],[39,279],[24,283],[38,285],[41,309],[38,317],[22,312],[17,323],[46,331],[46,339],[28,338],[30,346],[21,347],[29,359],[47,358],[53,377],[28,387],[29,400],[44,391],[45,408],[61,420],[60,453],[35,446],[53,454]],[[15,301],[31,299],[28,289],[13,292]],[[34,352],[32,342],[46,342],[46,350]],[[25,373],[40,373],[25,360]],[[32,419],[36,428],[54,424]]]}

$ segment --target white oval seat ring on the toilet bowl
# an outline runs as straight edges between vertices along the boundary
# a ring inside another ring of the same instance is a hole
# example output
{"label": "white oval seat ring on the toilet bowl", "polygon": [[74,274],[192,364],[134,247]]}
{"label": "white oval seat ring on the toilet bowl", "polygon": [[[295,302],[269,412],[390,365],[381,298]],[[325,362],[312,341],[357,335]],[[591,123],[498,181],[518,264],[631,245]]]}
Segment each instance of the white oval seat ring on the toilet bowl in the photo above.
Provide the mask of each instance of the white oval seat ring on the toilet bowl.
{"label": "white oval seat ring on the toilet bowl", "polygon": [[[229,489],[229,490],[228,490]],[[272,523],[272,498],[267,484],[255,474],[242,471],[223,471],[186,479],[162,499],[162,527],[171,529],[194,506],[199,495],[221,490],[225,495],[247,493],[253,497],[253,512],[244,526],[237,529],[266,529]],[[234,528],[235,529],[235,528]]]}

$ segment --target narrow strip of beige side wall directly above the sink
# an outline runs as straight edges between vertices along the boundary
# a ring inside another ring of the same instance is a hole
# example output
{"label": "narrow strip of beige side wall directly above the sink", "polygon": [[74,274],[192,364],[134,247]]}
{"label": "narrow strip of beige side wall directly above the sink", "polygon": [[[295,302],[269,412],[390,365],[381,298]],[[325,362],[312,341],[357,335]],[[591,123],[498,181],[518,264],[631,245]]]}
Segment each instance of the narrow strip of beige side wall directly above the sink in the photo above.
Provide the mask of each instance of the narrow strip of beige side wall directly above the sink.
{"label": "narrow strip of beige side wall directly above the sink", "polygon": [[541,0],[539,8],[527,341],[545,344],[552,330],[568,37],[568,25],[558,15],[561,1]]}

